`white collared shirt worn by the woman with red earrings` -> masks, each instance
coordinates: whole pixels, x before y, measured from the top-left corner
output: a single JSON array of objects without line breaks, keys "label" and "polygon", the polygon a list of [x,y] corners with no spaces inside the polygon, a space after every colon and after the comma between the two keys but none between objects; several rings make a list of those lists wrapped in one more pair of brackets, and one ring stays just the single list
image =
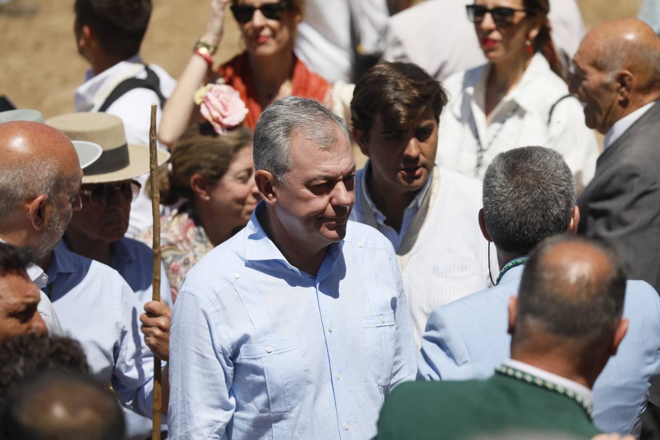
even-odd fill
[{"label": "white collared shirt worn by the woman with red earrings", "polygon": [[[593,131],[584,125],[582,106],[572,96],[564,98],[568,95],[566,83],[537,53],[486,125],[488,69],[490,65],[486,64],[459,72],[444,83],[449,104],[440,117],[436,164],[483,179],[486,168],[500,152],[520,146],[546,146],[562,153],[579,193],[593,177],[599,151]],[[485,150],[479,168],[477,137]]]}]

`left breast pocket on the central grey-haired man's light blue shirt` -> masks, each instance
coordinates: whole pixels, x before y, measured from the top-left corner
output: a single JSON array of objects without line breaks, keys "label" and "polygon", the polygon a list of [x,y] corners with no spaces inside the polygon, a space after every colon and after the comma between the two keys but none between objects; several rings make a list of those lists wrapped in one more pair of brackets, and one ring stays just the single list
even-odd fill
[{"label": "left breast pocket on the central grey-haired man's light blue shirt", "polygon": [[261,412],[287,412],[305,395],[305,367],[293,338],[241,347],[240,374],[255,406]]}]

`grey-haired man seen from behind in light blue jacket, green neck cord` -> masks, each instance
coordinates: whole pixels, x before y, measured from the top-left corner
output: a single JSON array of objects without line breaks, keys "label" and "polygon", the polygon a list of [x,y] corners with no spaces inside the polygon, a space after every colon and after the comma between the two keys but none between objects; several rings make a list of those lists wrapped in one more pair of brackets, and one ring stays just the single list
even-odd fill
[{"label": "grey-haired man seen from behind in light blue jacket, green neck cord", "polygon": [[[496,286],[435,309],[422,336],[418,377],[486,379],[510,358],[507,305],[517,295],[525,255],[545,237],[574,233],[576,191],[562,156],[540,146],[496,156],[484,177],[479,222],[500,262]],[[660,389],[660,298],[644,281],[628,281],[626,337],[593,386],[595,425],[621,434],[640,431],[647,398]]]}]

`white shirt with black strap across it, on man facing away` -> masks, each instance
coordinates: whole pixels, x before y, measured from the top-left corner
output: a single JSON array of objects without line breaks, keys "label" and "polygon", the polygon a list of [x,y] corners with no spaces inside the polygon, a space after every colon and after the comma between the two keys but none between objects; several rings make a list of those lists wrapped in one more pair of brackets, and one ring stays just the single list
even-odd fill
[{"label": "white shirt with black strap across it, on man facing away", "polygon": [[[141,67],[143,61],[135,55],[121,61],[95,77],[92,71],[87,71],[84,84],[76,89],[74,94],[76,111],[98,111],[110,92],[119,82],[128,78],[145,79],[147,74]],[[160,92],[168,98],[174,91],[176,81],[162,67],[150,64],[149,68],[158,75]],[[151,124],[151,104],[158,104],[156,109],[156,127],[160,124],[162,109],[158,95],[147,88],[134,88],[117,99],[106,113],[116,115],[123,121],[126,140],[129,144],[149,145],[149,127]],[[166,149],[158,142],[158,147]],[[153,224],[151,199],[146,193],[146,183],[149,174],[140,176],[137,180],[142,184],[140,195],[131,203],[131,217],[127,237],[133,237],[138,232],[150,228]]]}]

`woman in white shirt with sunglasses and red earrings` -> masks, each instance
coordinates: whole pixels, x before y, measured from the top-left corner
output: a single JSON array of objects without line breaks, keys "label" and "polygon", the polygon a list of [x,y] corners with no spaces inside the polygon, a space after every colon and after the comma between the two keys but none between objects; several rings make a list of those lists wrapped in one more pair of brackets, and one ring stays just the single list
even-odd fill
[{"label": "woman in white shirt with sunglasses and red earrings", "polygon": [[500,152],[541,145],[564,155],[581,191],[599,152],[568,93],[548,0],[475,0],[466,8],[488,63],[444,82],[451,98],[440,119],[436,162],[482,179]]}]

